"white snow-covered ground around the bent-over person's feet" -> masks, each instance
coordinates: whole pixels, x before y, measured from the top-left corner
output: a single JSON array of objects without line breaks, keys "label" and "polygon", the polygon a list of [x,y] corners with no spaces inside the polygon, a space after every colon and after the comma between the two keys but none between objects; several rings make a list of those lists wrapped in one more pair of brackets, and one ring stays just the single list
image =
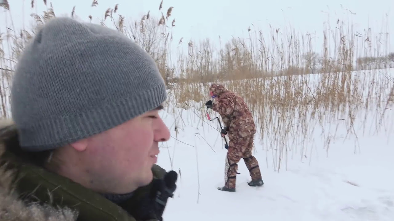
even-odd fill
[{"label": "white snow-covered ground around the bent-over person's feet", "polygon": [[[365,133],[357,125],[364,114],[356,116],[357,138],[346,137],[344,121],[325,128],[325,134],[337,130],[328,151],[327,140],[320,136],[322,128],[316,127],[309,143],[292,142],[293,151],[281,157],[279,171],[274,166],[275,149],[256,134],[254,155],[265,184],[247,185],[250,176],[241,159],[236,192],[216,189],[224,184],[227,152],[217,120],[210,122],[195,109],[175,113],[162,113],[172,138],[160,147],[158,164],[178,172],[178,188],[168,200],[164,220],[394,220],[394,138],[389,138],[394,134],[393,110],[386,111],[385,126],[378,134],[373,133],[376,113],[369,115]],[[217,116],[212,110],[209,113],[211,118]],[[306,144],[308,154],[301,158],[299,151]]]}]

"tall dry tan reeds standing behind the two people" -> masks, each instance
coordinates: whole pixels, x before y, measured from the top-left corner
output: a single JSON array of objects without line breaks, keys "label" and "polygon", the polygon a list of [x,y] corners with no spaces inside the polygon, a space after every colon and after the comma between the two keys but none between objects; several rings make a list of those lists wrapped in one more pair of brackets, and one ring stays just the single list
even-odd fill
[{"label": "tall dry tan reeds standing behind the two people", "polygon": [[[32,7],[35,4],[39,3],[32,1]],[[93,1],[92,7],[97,4]],[[6,12],[7,6],[8,2],[3,0]],[[258,136],[266,141],[263,149],[271,151],[275,169],[280,169],[294,153],[301,159],[310,155],[311,139],[316,138],[314,133],[318,130],[325,142],[321,148],[327,150],[336,139],[335,131],[329,128],[345,125],[347,135],[352,135],[355,143],[357,137],[363,136],[358,134],[356,123],[364,131],[373,129],[374,134],[387,132],[382,130],[385,129],[383,116],[392,114],[394,75],[388,69],[377,69],[392,65],[387,51],[387,30],[365,27],[361,32],[346,21],[326,22],[320,40],[323,50],[318,52],[312,44],[316,39],[308,33],[271,27],[269,37],[265,37],[262,30],[249,28],[248,39],[220,41],[220,47],[215,48],[209,39],[199,43],[173,39],[176,28],[171,17],[173,7],[164,10],[162,6],[163,1],[159,18],[148,12],[138,20],[127,22],[124,15],[117,14],[116,4],[105,11],[100,23],[118,29],[152,55],[169,88],[168,102],[174,104],[168,111],[177,115],[176,118],[185,116],[179,116],[175,107],[192,108],[198,110],[195,117],[203,119],[201,123],[206,122],[202,106],[209,98],[209,85],[222,83],[241,94],[249,104]],[[17,30],[9,14],[5,14],[6,27],[0,29],[2,117],[10,116],[8,85],[20,53],[37,29],[55,16],[52,6],[47,6],[43,15],[32,15],[33,27]],[[374,36],[375,32],[379,34]],[[186,52],[174,47],[182,44],[187,44]],[[360,59],[371,57],[388,59]],[[358,69],[369,70],[355,72]],[[374,119],[374,124],[370,119]],[[179,120],[175,126],[182,127],[185,122]],[[296,149],[300,146],[301,149]]]}]

